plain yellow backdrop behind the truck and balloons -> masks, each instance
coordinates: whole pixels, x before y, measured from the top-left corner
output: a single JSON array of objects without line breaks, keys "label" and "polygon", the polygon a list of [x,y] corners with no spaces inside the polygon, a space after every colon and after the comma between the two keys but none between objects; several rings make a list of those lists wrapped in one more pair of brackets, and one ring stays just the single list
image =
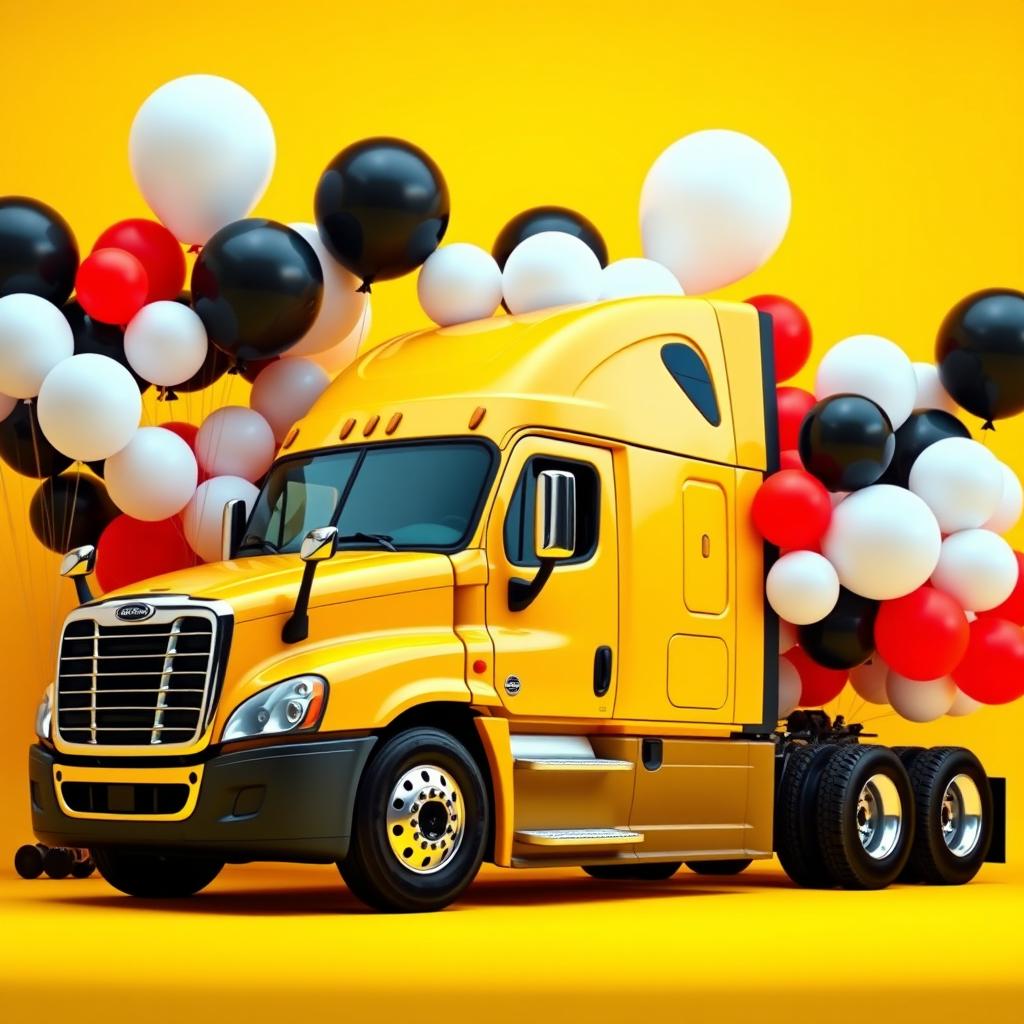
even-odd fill
[{"label": "plain yellow backdrop behind the truck and balloons", "polygon": [[[209,72],[250,89],[273,122],[278,163],[256,212],[311,219],[328,160],[357,138],[395,134],[424,146],[445,173],[453,200],[446,241],[483,246],[517,211],[559,203],[599,225],[612,258],[640,255],[640,186],[657,154],[700,128],[749,132],[786,170],[793,222],[775,257],[723,294],[774,291],[803,305],[815,329],[812,364],[828,344],[860,332],[886,335],[914,358],[928,358],[939,322],[962,296],[991,285],[1024,286],[1020,0],[250,0],[173,8],[138,0],[0,0],[0,194],[27,194],[56,207],[84,251],[113,221],[146,214],[127,159],[139,103],[168,79]],[[425,323],[414,278],[375,287],[373,303],[371,343]],[[797,383],[810,380],[805,372]],[[234,386],[244,399],[244,388]],[[229,388],[181,402],[173,415],[197,419],[213,400],[225,400]],[[151,404],[147,415],[163,422],[172,414]],[[971,425],[980,436],[978,422]],[[1024,473],[1022,423],[1000,424],[982,439]],[[70,587],[55,580],[55,558],[41,554],[26,531],[31,486],[9,472],[4,482],[12,520],[0,510],[2,870],[13,845],[28,839],[25,749],[52,669],[53,631],[70,602]],[[1024,534],[1018,529],[1012,540],[1019,546]],[[847,710],[853,703],[841,701]],[[1014,776],[1012,807],[1020,819],[1024,702],[933,726],[892,716],[871,724],[890,742],[974,748],[990,772]],[[1018,860],[1024,855],[1020,829],[1011,852]],[[536,895],[532,885],[524,898]],[[503,891],[514,900],[515,890]],[[26,892],[18,890],[19,898]],[[771,910],[782,919],[797,903],[779,897],[802,900],[804,912],[819,905],[818,897],[787,889],[773,895]],[[988,891],[989,909],[996,896]],[[752,920],[750,903],[719,898],[724,902],[711,905],[739,914],[733,927]],[[864,920],[857,900],[837,904],[844,909],[836,934],[846,922]],[[228,901],[221,908],[243,905]],[[285,912],[286,905],[268,912]],[[683,923],[688,911],[689,904],[680,906],[672,920]],[[542,926],[543,909],[531,912],[517,943],[528,945],[530,921]],[[900,910],[919,912],[909,904]],[[709,914],[718,920],[715,910]],[[632,928],[601,920],[608,921],[609,949],[633,941]],[[597,934],[596,921],[588,921],[566,926],[566,945]],[[127,915],[119,927],[130,928]],[[383,934],[388,926],[374,927]],[[828,931],[812,929],[811,943]],[[344,934],[339,929],[336,937],[339,957]],[[988,941],[994,949],[1012,940],[1000,934]],[[522,948],[500,953],[501,945],[492,945],[496,955],[524,954]],[[426,953],[429,959],[429,941]],[[288,971],[301,976],[300,962],[289,956]],[[528,984],[526,974],[521,980]],[[646,983],[671,982],[665,976]],[[458,1000],[449,1008],[457,1014]]]}]

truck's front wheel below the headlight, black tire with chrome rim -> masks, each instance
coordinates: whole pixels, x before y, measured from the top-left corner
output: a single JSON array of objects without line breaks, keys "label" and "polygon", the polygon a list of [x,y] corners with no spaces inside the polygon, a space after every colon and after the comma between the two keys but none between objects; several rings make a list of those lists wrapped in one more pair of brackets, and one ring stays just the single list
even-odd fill
[{"label": "truck's front wheel below the headlight, black tire with chrome rim", "polygon": [[[421,774],[428,777],[421,781]],[[413,775],[416,785],[404,796]],[[427,808],[431,830],[417,830]],[[389,822],[392,809],[399,821]],[[439,729],[409,729],[384,742],[364,770],[348,854],[338,869],[352,893],[378,910],[439,910],[476,877],[489,817],[487,788],[469,751]],[[459,837],[454,848],[450,837]]]}]

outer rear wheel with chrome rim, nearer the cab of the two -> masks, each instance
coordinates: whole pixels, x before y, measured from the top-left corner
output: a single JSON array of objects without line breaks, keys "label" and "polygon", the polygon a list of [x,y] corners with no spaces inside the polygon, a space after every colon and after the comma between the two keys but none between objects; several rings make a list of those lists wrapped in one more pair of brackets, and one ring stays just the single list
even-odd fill
[{"label": "outer rear wheel with chrome rim, nearer the cab of the two", "polygon": [[[872,807],[883,817],[870,829]],[[913,796],[903,762],[888,746],[840,748],[821,775],[818,827],[822,858],[845,889],[895,882],[913,842]]]}]

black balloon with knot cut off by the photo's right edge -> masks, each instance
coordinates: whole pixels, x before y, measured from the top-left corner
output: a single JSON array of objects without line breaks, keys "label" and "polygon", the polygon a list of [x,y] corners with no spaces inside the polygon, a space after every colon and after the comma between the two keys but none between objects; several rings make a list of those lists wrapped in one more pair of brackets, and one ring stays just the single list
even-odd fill
[{"label": "black balloon with knot cut off by the photo's right edge", "polygon": [[942,386],[986,427],[1024,411],[1024,294],[992,288],[946,314],[935,343]]}]

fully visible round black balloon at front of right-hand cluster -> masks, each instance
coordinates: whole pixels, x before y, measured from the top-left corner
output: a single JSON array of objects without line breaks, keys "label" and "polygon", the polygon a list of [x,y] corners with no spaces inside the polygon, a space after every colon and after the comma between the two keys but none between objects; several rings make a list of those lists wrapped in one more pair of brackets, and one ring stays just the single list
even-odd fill
[{"label": "fully visible round black balloon at front of right-hand cluster", "polygon": [[823,398],[800,427],[800,460],[829,490],[877,483],[892,461],[896,437],[885,412],[859,394]]}]

